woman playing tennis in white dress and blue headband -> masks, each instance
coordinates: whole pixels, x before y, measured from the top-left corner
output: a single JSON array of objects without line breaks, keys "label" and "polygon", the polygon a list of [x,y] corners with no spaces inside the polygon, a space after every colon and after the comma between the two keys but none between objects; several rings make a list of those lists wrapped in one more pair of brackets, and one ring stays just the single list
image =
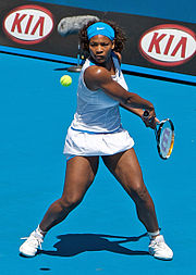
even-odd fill
[{"label": "woman playing tennis in white dress and blue headband", "polygon": [[[158,122],[152,103],[128,92],[120,68],[124,46],[122,30],[110,22],[89,22],[79,33],[81,46],[88,52],[77,89],[77,110],[68,130],[64,154],[68,159],[62,197],[54,201],[41,223],[21,246],[20,252],[34,257],[46,233],[62,222],[83,200],[97,173],[99,155],[136,205],[146,227],[149,253],[171,260],[172,250],[160,235],[154,202],[143,182],[133,149],[134,141],[121,125],[119,105],[137,114],[147,127]],[[144,117],[144,111],[149,112]]]}]

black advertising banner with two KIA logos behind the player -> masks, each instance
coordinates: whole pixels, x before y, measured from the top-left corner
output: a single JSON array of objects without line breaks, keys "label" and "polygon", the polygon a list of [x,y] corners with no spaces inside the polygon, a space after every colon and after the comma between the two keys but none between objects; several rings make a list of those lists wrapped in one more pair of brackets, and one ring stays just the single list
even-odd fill
[{"label": "black advertising banner with two KIA logos behind the player", "polygon": [[196,24],[23,0],[0,0],[0,11],[1,52],[73,63],[78,29],[106,18],[126,34],[124,71],[196,84]]}]

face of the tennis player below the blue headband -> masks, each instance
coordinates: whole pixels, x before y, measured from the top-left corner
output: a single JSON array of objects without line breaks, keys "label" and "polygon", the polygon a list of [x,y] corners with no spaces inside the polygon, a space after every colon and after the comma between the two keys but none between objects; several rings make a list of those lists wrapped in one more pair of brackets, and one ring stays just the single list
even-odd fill
[{"label": "face of the tennis player below the blue headband", "polygon": [[105,63],[111,57],[114,43],[106,36],[97,35],[89,40],[89,52],[97,63]]}]

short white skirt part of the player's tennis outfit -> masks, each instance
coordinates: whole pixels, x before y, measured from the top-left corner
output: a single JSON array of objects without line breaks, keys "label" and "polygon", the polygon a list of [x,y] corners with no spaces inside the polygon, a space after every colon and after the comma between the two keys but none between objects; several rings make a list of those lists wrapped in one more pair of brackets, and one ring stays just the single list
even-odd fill
[{"label": "short white skirt part of the player's tennis outfit", "polygon": [[127,130],[120,127],[113,133],[86,133],[69,127],[63,153],[66,160],[75,155],[110,155],[134,146]]}]

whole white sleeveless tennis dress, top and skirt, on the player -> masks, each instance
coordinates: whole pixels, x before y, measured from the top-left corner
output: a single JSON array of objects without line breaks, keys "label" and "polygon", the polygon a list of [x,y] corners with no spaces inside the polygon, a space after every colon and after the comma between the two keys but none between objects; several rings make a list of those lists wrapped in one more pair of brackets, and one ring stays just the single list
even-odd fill
[{"label": "whole white sleeveless tennis dress, top and skirt, on the player", "polygon": [[[113,80],[127,90],[117,55],[112,55],[115,66]],[[86,60],[77,88],[77,110],[68,129],[64,150],[69,160],[75,155],[109,155],[125,151],[134,146],[133,138],[121,125],[119,101],[101,89],[89,90],[84,82],[84,72],[95,65]]]}]

